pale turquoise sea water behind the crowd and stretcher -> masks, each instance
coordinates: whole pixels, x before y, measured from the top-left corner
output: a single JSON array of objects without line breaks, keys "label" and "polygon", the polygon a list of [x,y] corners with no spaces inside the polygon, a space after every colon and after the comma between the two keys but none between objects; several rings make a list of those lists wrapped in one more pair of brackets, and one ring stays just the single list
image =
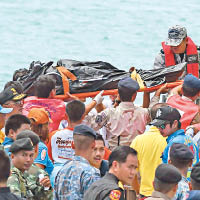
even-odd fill
[{"label": "pale turquoise sea water behind the crowd and stretcher", "polygon": [[199,0],[0,0],[0,88],[33,60],[151,69],[168,27],[200,45]]}]

